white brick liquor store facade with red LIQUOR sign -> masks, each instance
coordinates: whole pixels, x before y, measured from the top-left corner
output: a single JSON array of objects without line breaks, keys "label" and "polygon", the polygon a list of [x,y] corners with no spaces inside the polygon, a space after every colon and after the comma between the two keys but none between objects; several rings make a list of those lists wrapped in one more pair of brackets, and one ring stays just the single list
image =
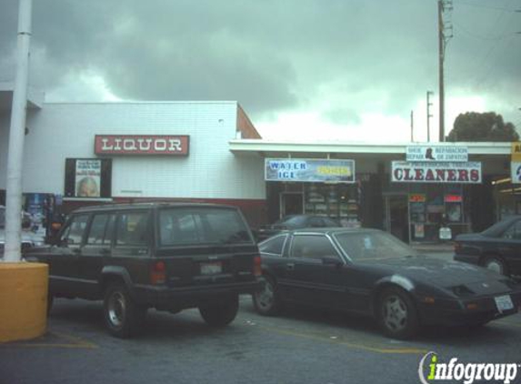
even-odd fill
[{"label": "white brick liquor store facade with red LIQUOR sign", "polygon": [[[0,190],[6,187],[9,119],[10,109],[0,109]],[[260,137],[235,101],[42,103],[28,109],[26,126],[23,191],[31,198],[55,196],[65,212],[108,201],[190,200],[241,207],[255,226],[266,210],[263,160],[229,149],[237,137]],[[96,153],[96,136],[112,153]],[[139,150],[150,146],[149,153]],[[68,169],[71,161],[102,184],[98,193],[75,190],[82,172]]]}]

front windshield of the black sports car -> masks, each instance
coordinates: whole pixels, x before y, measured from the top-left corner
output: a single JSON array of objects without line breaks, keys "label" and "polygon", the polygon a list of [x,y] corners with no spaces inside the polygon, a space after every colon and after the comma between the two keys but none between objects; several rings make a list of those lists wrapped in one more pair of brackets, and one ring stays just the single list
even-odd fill
[{"label": "front windshield of the black sports car", "polygon": [[418,256],[418,252],[386,232],[341,232],[334,236],[354,261]]}]

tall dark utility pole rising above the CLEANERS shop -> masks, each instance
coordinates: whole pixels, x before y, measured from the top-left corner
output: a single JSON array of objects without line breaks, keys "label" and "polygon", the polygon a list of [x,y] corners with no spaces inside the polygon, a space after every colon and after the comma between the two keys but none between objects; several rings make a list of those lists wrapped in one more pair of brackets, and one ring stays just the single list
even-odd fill
[{"label": "tall dark utility pole rising above the CLEANERS shop", "polygon": [[[452,0],[437,0],[438,60],[439,60],[439,141],[445,141],[444,61],[446,44],[452,37],[452,25],[444,20],[444,12],[452,11]],[[448,34],[446,32],[448,31]]]}]

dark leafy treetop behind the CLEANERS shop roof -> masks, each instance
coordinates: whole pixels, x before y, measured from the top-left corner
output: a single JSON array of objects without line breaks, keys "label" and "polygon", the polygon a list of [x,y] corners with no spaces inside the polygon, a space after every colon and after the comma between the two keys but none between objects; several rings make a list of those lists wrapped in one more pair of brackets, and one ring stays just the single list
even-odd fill
[{"label": "dark leafy treetop behind the CLEANERS shop roof", "polygon": [[466,112],[454,121],[447,141],[517,141],[516,127],[495,112]]}]

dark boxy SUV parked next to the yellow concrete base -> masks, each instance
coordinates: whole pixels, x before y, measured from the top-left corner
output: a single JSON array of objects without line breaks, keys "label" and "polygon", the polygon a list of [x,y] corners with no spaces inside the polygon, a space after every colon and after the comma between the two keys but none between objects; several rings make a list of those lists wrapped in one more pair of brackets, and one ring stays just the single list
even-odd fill
[{"label": "dark boxy SUV parked next to the yellow concrete base", "polygon": [[199,308],[208,325],[225,326],[238,295],[259,288],[259,251],[236,207],[80,208],[55,245],[25,258],[49,265],[49,298],[103,299],[105,326],[120,338],[141,328],[147,308]]}]

